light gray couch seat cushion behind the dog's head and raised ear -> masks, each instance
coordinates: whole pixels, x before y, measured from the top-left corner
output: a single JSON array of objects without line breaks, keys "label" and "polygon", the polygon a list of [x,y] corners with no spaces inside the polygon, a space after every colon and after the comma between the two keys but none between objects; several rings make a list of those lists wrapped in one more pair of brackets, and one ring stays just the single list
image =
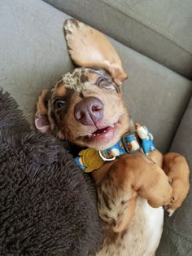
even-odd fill
[{"label": "light gray couch seat cushion behind the dog's head and raised ear", "polygon": [[[40,90],[72,71],[63,37],[63,12],[37,0],[0,2],[0,86],[11,92],[33,120]],[[111,39],[129,80],[124,98],[135,121],[149,126],[167,151],[190,99],[192,82]]]}]

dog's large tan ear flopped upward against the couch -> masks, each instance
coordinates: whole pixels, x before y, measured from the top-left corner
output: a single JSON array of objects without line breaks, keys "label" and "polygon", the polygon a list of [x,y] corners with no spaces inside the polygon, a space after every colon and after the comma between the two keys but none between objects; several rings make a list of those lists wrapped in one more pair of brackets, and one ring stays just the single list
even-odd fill
[{"label": "dog's large tan ear flopped upward against the couch", "polygon": [[64,32],[68,51],[77,66],[104,68],[117,85],[128,77],[119,55],[103,33],[73,19],[65,21]]}]

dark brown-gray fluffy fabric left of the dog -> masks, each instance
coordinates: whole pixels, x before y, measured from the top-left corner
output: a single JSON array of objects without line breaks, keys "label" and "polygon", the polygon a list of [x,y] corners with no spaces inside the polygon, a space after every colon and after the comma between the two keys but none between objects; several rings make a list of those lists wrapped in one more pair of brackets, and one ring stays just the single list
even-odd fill
[{"label": "dark brown-gray fluffy fabric left of the dog", "polygon": [[87,255],[102,240],[93,181],[0,91],[0,255]]}]

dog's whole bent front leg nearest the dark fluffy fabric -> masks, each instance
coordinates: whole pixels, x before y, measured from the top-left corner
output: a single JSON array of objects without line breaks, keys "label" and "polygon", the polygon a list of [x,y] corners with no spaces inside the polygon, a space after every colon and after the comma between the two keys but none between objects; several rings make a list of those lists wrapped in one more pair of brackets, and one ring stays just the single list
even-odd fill
[{"label": "dog's whole bent front leg nearest the dark fluffy fabric", "polygon": [[94,174],[94,179],[98,186],[99,214],[114,232],[122,232],[128,226],[137,195],[146,198],[153,207],[170,204],[172,188],[168,177],[142,153],[121,157],[108,170]]}]

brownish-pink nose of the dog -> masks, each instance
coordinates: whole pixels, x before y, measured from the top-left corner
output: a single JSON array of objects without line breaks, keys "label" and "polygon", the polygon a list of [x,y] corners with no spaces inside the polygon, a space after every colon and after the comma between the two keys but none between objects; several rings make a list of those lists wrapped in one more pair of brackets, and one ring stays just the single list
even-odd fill
[{"label": "brownish-pink nose of the dog", "polygon": [[95,97],[82,99],[74,108],[74,116],[83,125],[93,126],[103,117],[103,103]]}]

